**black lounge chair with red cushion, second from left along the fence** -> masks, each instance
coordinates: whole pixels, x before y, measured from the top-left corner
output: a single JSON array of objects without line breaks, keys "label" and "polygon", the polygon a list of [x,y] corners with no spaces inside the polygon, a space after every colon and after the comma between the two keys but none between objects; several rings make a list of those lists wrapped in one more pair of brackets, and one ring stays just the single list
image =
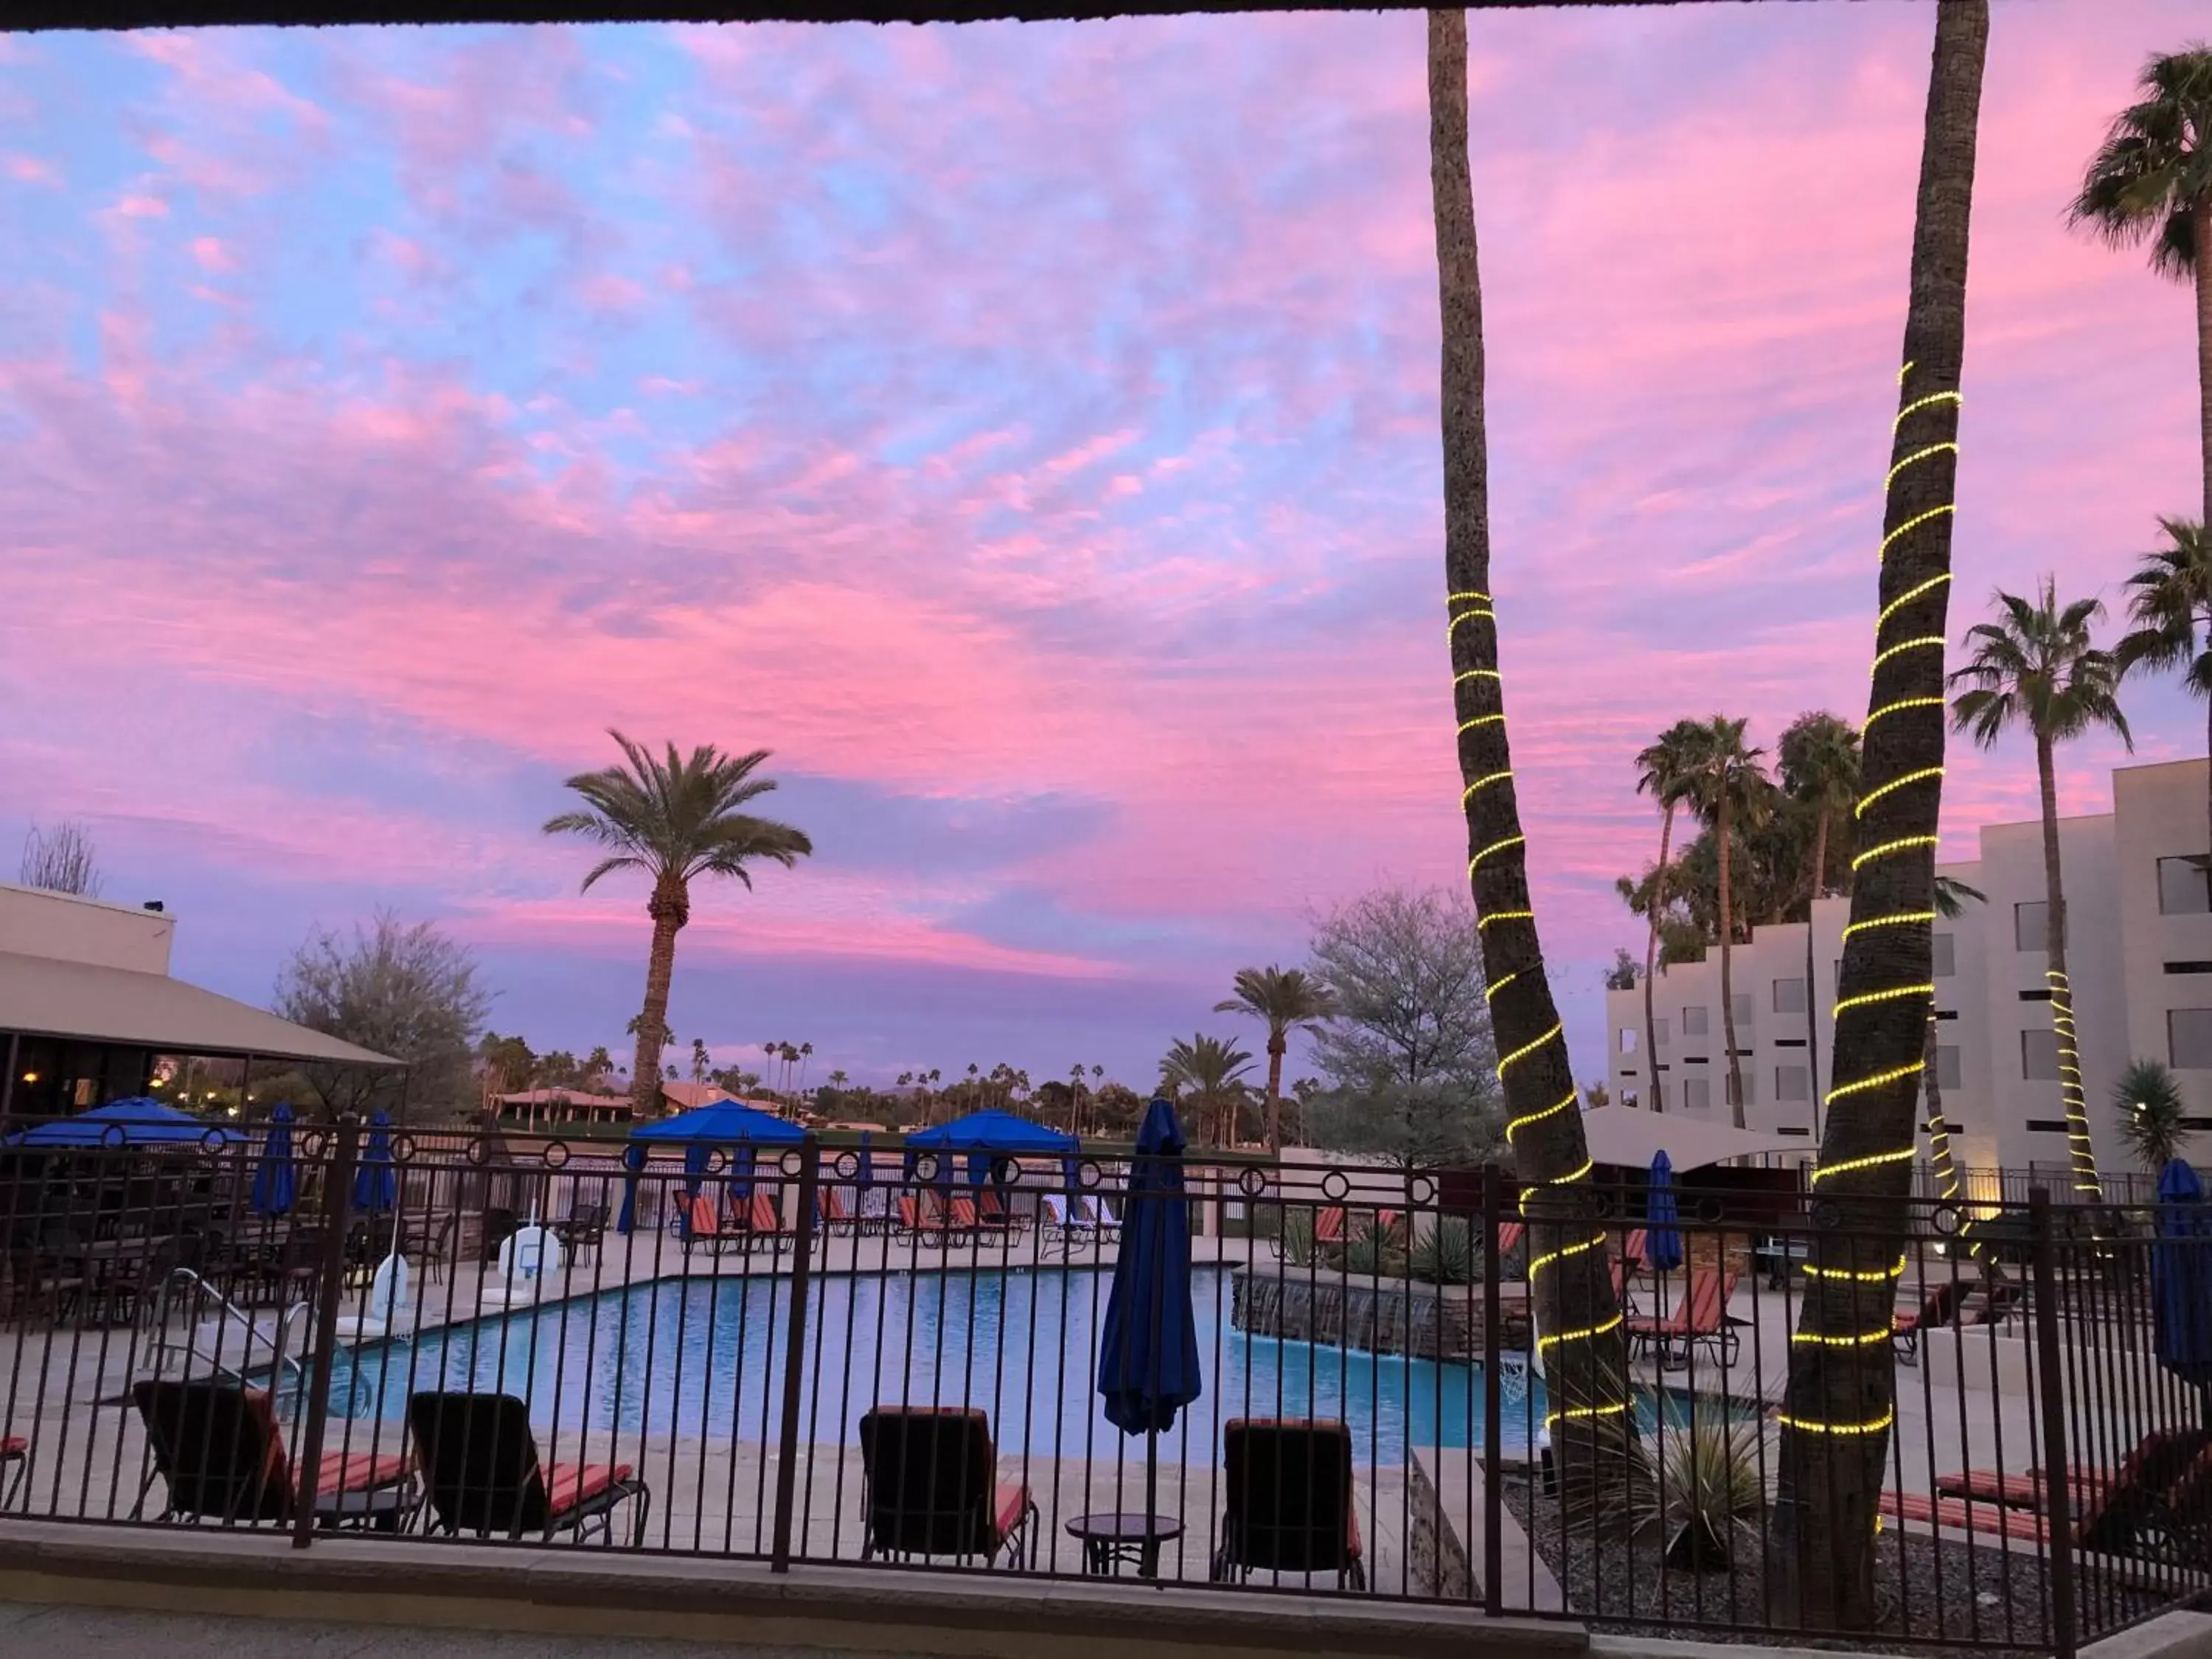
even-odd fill
[{"label": "black lounge chair with red cushion, second from left along the fence", "polygon": [[653,1491],[626,1462],[538,1462],[529,1407],[513,1394],[416,1394],[407,1400],[429,1524],[476,1537],[615,1535],[635,1502],[630,1544],[646,1542]]}]

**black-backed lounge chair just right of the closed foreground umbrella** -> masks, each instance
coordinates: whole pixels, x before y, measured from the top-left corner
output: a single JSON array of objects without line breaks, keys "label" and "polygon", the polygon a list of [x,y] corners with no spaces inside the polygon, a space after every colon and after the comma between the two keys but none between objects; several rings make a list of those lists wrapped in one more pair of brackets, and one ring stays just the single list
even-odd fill
[{"label": "black-backed lounge chair just right of the closed foreground umbrella", "polygon": [[1217,1584],[1252,1573],[1334,1573],[1338,1588],[1367,1588],[1347,1425],[1234,1418],[1221,1429],[1221,1462]]}]

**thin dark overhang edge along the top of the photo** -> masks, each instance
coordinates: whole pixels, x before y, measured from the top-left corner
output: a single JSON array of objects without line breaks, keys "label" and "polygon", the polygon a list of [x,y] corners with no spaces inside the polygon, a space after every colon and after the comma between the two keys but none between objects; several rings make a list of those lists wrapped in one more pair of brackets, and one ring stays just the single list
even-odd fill
[{"label": "thin dark overhang edge along the top of the photo", "polygon": [[[1663,7],[1712,0],[1467,0],[1469,11],[1568,7]],[[1730,0],[1803,4],[1809,0]],[[1186,11],[1427,11],[1367,0],[0,0],[0,29],[199,29],[215,24],[363,22],[1091,22],[1164,18]]]}]

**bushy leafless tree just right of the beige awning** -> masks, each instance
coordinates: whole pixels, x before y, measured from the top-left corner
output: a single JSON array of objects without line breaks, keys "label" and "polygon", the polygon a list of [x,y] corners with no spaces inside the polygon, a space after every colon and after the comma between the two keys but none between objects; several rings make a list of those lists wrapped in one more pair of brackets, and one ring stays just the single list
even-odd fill
[{"label": "bushy leafless tree just right of the beige awning", "polygon": [[[376,911],[352,938],[319,929],[276,978],[274,1009],[285,1020],[341,1042],[405,1060],[409,1093],[422,1104],[453,1104],[469,1091],[476,1035],[491,993],[476,958],[431,922],[403,925]],[[310,1064],[307,1082],[341,1113],[387,1106],[398,1077],[363,1066]]]}]

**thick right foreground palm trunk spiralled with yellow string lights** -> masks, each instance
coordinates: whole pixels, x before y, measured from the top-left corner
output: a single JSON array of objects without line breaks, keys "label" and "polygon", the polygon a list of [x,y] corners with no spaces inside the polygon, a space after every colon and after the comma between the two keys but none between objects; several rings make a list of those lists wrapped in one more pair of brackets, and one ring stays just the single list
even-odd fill
[{"label": "thick right foreground palm trunk spiralled with yellow string lights", "polygon": [[1851,925],[1843,936],[1834,1086],[1812,1259],[1790,1345],[1770,1617],[1874,1624],[1876,1502],[1896,1422],[1896,1310],[1913,1110],[1933,1002],[1942,641],[1951,595],[1958,389],[1966,356],[1966,223],[1989,0],[1940,0],[1913,215],[1905,369],[1882,511],[1874,690],[1860,759]]}]

